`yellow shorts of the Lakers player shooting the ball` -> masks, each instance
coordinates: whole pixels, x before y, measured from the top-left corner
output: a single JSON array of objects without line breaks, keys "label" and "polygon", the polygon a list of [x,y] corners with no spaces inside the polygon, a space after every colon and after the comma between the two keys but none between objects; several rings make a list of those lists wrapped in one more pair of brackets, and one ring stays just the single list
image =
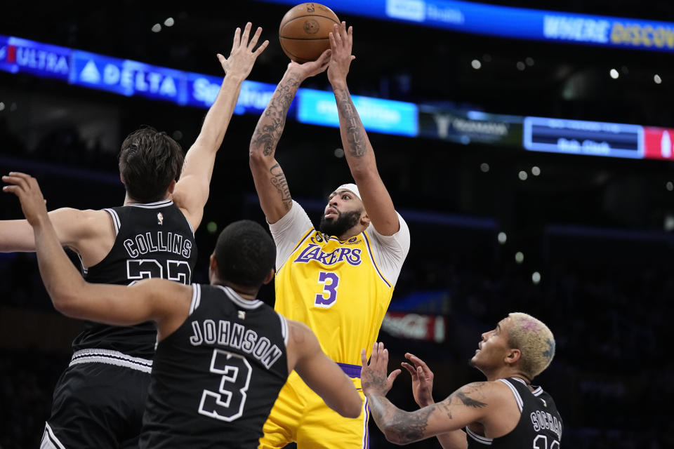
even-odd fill
[{"label": "yellow shorts of the Lakers player shooting the ball", "polygon": [[258,448],[283,448],[293,441],[297,443],[298,449],[369,448],[369,409],[359,377],[352,377],[351,380],[363,401],[362,411],[357,418],[345,418],[326,406],[323,399],[293,371],[265,422],[265,435],[260,438]]}]

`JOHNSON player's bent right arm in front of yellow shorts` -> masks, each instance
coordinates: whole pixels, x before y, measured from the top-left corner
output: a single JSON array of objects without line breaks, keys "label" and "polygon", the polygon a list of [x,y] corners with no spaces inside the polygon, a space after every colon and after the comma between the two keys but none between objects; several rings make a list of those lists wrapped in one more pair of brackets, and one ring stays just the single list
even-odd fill
[{"label": "JOHNSON player's bent right arm in front of yellow shorts", "polygon": [[327,406],[344,417],[358,417],[362,401],[337,363],[325,355],[316,335],[305,324],[288,320],[290,337],[288,342],[289,366],[310,389],[323,398]]}]

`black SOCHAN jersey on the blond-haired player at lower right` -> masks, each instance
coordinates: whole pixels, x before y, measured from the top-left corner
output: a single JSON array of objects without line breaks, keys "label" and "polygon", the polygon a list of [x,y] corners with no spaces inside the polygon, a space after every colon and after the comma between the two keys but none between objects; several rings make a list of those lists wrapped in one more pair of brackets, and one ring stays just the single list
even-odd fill
[{"label": "black SOCHAN jersey on the blond-haired player at lower right", "polygon": [[562,417],[557,412],[555,401],[541,387],[534,391],[517,377],[499,379],[513,391],[520,407],[520,422],[509,434],[498,438],[485,438],[466,428],[468,448],[491,449],[560,449],[562,441]]}]

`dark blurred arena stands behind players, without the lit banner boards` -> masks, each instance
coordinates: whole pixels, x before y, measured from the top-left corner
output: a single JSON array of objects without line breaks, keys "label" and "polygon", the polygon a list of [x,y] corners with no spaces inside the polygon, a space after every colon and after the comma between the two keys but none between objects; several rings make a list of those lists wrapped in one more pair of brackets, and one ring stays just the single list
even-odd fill
[{"label": "dark blurred arena stands behind players, without the lit banner boards", "polygon": [[[529,152],[517,133],[498,132],[508,116],[674,128],[672,46],[506,39],[367,18],[341,12],[339,1],[323,3],[354,27],[352,94],[425,105],[423,137],[369,133],[381,176],[411,231],[380,334],[391,368],[413,352],[435,371],[435,398],[444,398],[482,379],[467,365],[480,333],[509,311],[526,311],[557,337],[555,360],[535,383],[557,401],[564,447],[673,447],[674,163]],[[668,1],[484,3],[674,21]],[[288,8],[238,0],[10,0],[1,8],[0,34],[220,76],[215,54],[228,55],[234,28],[251,21],[263,27],[270,46],[249,80],[275,84],[287,63],[277,32]],[[170,27],[167,18],[174,20]],[[161,31],[152,31],[155,24]],[[322,74],[303,87],[324,91],[329,83]],[[484,133],[442,138],[437,120],[447,111],[459,118],[466,111],[502,116],[489,122],[497,128],[491,142]],[[50,209],[121,204],[116,154],[124,136],[147,124],[187,149],[205,112],[0,72],[0,171],[36,176]],[[215,229],[242,217],[264,223],[247,161],[257,119],[235,115],[218,154],[197,231],[195,281],[207,281]],[[466,133],[480,131],[468,119],[461,123]],[[286,124],[277,159],[312,218],[325,195],[350,179],[340,147],[337,128]],[[0,218],[19,217],[18,201],[0,195]],[[34,448],[81,323],[54,311],[34,255],[0,255],[0,273],[0,448]],[[272,286],[260,295],[271,304]],[[389,398],[416,408],[407,373]],[[372,447],[389,447],[372,420],[370,430]],[[431,439],[411,447],[440,445]]]}]

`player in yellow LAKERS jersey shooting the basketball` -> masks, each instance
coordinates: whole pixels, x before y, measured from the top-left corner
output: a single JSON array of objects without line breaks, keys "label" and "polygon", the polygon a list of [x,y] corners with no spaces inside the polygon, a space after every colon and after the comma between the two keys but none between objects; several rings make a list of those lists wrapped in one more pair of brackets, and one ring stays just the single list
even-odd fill
[{"label": "player in yellow LAKERS jersey shooting the basketball", "polygon": [[[260,206],[277,246],[275,309],[309,326],[321,347],[360,387],[360,349],[371,347],[409,250],[409,229],[379,176],[374,151],[349,93],[352,29],[335,25],[331,51],[291,62],[258,121],[250,164]],[[346,160],[355,184],[336,188],[315,229],[290,196],[275,151],[300,84],[324,72],[332,85]],[[364,401],[364,398],[363,398]],[[326,408],[291,375],[267,420],[260,448],[368,446],[366,401],[356,419]]]}]

